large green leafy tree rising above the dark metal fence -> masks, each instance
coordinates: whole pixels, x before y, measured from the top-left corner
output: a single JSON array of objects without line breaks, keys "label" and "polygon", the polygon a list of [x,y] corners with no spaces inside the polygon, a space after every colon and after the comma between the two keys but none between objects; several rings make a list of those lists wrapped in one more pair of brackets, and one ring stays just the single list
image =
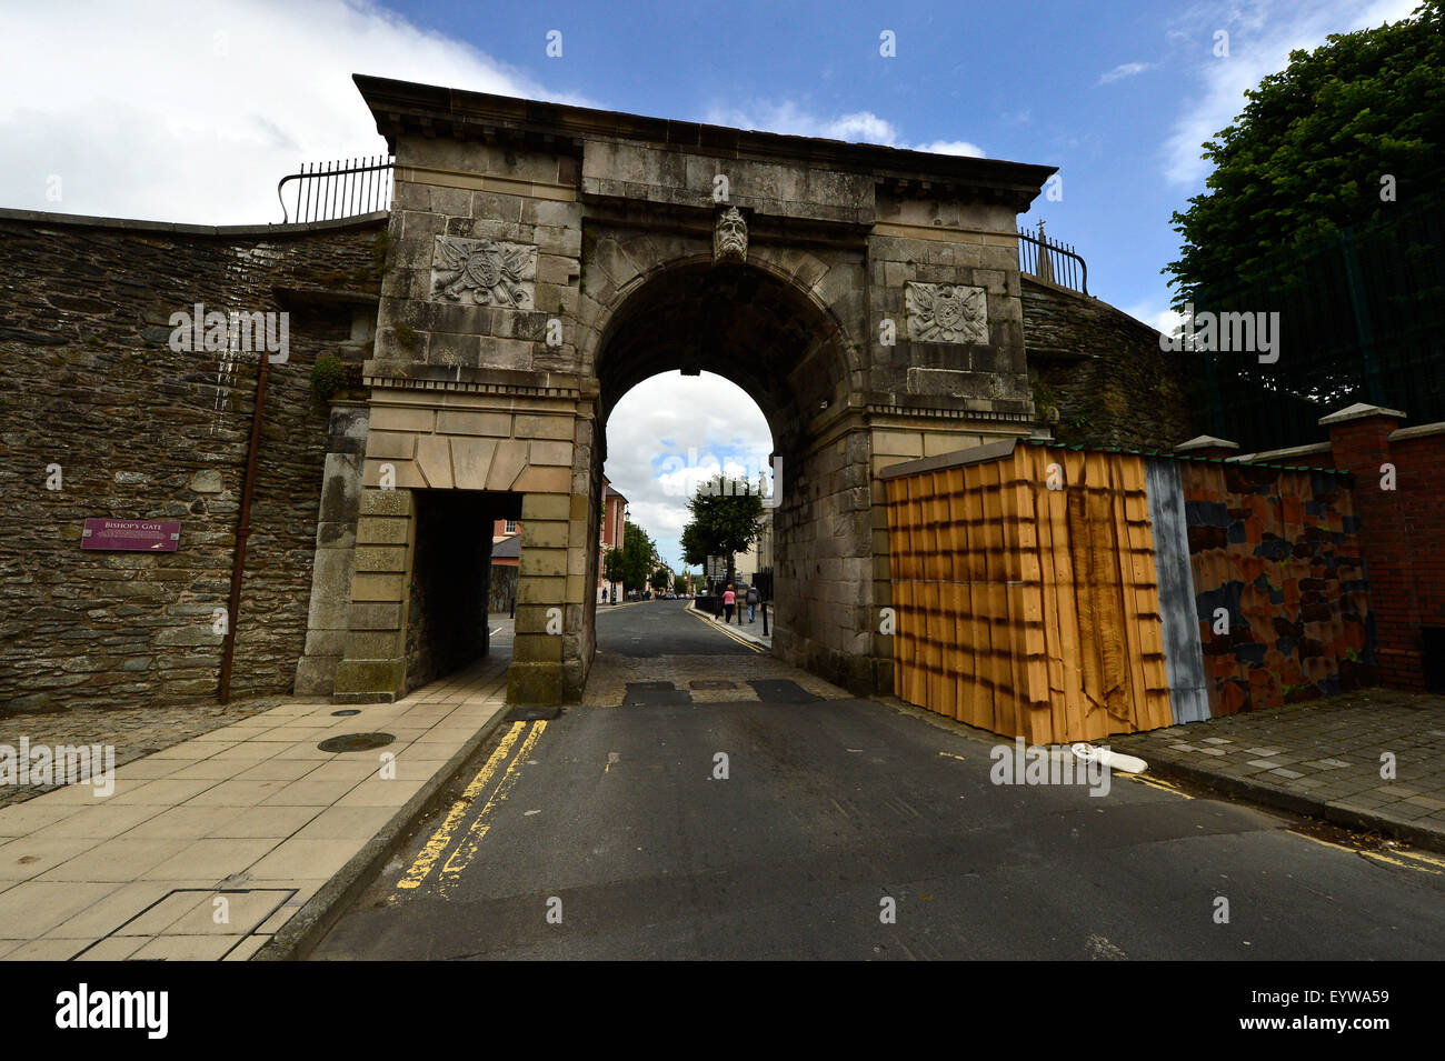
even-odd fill
[{"label": "large green leafy tree rising above the dark metal fence", "polygon": [[1441,188],[1445,0],[1289,59],[1204,144],[1208,191],[1173,215],[1183,244],[1165,271],[1176,309],[1198,309],[1202,292],[1259,280],[1289,251],[1381,217],[1390,179],[1400,201]]}]

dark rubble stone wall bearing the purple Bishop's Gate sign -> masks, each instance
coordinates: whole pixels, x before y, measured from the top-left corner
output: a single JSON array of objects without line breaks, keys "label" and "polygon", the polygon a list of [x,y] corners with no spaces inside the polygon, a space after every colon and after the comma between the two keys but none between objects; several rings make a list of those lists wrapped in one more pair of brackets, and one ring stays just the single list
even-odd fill
[{"label": "dark rubble stone wall bearing the purple Bishop's Gate sign", "polygon": [[[171,315],[198,302],[292,313],[289,361],[269,372],[233,694],[290,690],[328,446],[309,371],[368,341],[358,316],[374,313],[384,253],[376,218],[207,230],[0,212],[0,710],[215,696],[257,365],[168,348]],[[49,465],[62,489],[46,489]],[[181,544],[82,551],[87,517],[179,520]]]}]

